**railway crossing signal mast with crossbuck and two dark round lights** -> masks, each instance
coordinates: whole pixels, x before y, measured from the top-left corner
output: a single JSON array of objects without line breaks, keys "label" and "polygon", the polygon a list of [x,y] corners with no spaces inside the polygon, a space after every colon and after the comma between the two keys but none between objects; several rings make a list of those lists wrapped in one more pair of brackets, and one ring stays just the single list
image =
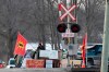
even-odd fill
[{"label": "railway crossing signal mast with crossbuck and two dark round lights", "polygon": [[[75,12],[75,9],[77,7],[76,3],[73,3],[71,5],[71,0],[66,0],[66,7],[60,0],[58,0],[58,7],[59,7],[60,24],[57,26],[57,29],[59,33],[62,33],[62,37],[69,39],[68,45],[70,45],[71,38],[74,37],[74,33],[78,33],[81,31],[80,25],[76,23],[76,17],[75,17],[76,14],[75,13],[73,13],[74,15],[72,14],[72,12]],[[66,22],[63,22],[63,20],[66,20]],[[68,57],[68,65],[70,65],[70,57]]]}]

